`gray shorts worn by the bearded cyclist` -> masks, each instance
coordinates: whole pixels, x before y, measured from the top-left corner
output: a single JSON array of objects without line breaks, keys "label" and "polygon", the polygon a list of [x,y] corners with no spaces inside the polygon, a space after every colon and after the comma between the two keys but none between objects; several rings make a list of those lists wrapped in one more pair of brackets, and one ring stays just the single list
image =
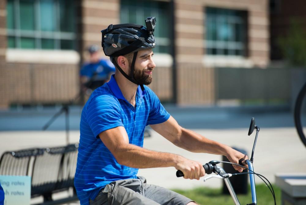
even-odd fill
[{"label": "gray shorts worn by the bearded cyclist", "polygon": [[170,204],[186,205],[193,200],[152,184],[147,184],[146,179],[138,176],[138,179],[118,180],[107,184],[94,200],[89,199],[90,205],[141,205],[141,204]]}]

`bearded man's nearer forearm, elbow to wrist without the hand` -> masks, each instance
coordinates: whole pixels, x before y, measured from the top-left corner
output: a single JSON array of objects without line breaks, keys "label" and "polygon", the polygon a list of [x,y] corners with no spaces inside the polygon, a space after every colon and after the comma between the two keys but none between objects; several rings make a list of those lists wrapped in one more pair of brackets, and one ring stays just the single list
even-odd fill
[{"label": "bearded man's nearer forearm, elbow to wrist without the hand", "polygon": [[119,164],[134,168],[175,167],[185,159],[176,154],[151,151],[131,144],[118,147],[113,154]]}]

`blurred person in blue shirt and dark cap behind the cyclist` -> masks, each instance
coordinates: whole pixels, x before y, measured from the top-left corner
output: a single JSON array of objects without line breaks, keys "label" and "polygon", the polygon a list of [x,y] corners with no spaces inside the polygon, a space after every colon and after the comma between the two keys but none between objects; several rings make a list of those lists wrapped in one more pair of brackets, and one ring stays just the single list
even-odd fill
[{"label": "blurred person in blue shirt and dark cap behind the cyclist", "polygon": [[85,63],[80,70],[82,90],[90,95],[97,87],[108,82],[110,75],[115,73],[114,64],[109,59],[101,59],[99,46],[91,45],[88,48],[89,62]]}]

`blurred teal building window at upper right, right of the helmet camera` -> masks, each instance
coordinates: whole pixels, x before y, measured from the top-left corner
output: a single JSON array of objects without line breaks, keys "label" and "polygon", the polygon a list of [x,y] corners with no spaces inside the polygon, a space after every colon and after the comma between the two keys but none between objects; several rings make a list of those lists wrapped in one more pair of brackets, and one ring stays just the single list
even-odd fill
[{"label": "blurred teal building window at upper right, right of the helmet camera", "polygon": [[247,12],[206,7],[206,54],[246,56]]}]

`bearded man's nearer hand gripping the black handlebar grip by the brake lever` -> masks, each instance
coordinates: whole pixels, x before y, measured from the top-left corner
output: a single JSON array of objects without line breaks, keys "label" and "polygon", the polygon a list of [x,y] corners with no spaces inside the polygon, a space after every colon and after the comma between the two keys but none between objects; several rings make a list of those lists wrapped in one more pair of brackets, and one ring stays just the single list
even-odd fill
[{"label": "bearded man's nearer hand gripping the black handlebar grip by the brake lever", "polygon": [[205,170],[200,162],[188,160],[184,157],[180,157],[175,168],[181,170],[184,173],[185,179],[196,179],[205,175]]}]

